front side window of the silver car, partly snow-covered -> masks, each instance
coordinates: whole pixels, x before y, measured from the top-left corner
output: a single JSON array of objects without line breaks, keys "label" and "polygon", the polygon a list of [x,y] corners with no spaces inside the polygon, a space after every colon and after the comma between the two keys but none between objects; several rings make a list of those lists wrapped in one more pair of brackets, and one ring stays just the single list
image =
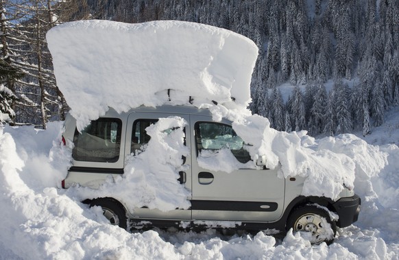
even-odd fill
[{"label": "front side window of the silver car, partly snow-covered", "polygon": [[195,139],[198,154],[202,150],[228,148],[240,163],[251,160],[249,152],[243,148],[243,139],[234,132],[232,126],[224,123],[197,122],[195,123]]}]

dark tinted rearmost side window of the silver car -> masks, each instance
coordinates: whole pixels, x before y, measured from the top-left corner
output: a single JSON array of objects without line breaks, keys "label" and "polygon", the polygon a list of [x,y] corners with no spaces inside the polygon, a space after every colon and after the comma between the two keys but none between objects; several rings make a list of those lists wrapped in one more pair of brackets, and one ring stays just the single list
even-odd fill
[{"label": "dark tinted rearmost side window of the silver car", "polygon": [[80,133],[75,130],[72,156],[76,161],[114,163],[121,150],[122,121],[100,118]]}]

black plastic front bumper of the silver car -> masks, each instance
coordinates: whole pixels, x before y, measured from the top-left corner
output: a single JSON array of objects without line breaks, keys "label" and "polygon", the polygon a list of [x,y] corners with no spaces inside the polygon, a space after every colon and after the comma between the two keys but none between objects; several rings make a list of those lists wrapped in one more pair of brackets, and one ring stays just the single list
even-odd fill
[{"label": "black plastic front bumper of the silver car", "polygon": [[333,204],[339,215],[337,226],[344,228],[357,221],[360,212],[361,199],[354,194],[352,197],[341,198]]}]

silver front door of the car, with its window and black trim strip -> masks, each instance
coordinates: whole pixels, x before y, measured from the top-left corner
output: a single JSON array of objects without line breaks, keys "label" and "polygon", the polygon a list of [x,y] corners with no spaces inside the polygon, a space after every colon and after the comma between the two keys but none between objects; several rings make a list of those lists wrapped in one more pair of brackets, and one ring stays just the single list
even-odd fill
[{"label": "silver front door of the car, with its window and black trim strip", "polygon": [[[226,148],[235,160],[241,163],[250,160],[249,154],[240,147],[241,138],[232,130],[229,121],[216,123],[210,117],[201,115],[191,115],[191,129],[195,134],[191,139],[193,219],[278,220],[284,208],[285,194],[285,180],[278,178],[278,169],[245,169],[245,165],[232,172],[217,169],[217,164],[223,168],[220,165],[226,162],[217,161],[217,158],[212,160],[211,157],[226,152]],[[202,153],[208,153],[209,165],[204,165],[204,160],[199,158]],[[236,162],[233,160],[232,163]]]}]

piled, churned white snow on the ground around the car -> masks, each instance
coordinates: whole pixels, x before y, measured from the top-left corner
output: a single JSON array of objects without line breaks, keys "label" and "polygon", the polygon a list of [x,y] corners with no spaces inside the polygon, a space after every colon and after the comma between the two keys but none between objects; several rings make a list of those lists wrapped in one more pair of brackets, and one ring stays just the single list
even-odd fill
[{"label": "piled, churned white snow on the ground around the car", "polygon": [[[376,150],[388,154],[387,161],[380,161],[385,166],[379,173],[360,177],[370,186],[359,185],[356,193],[363,201],[373,196],[363,203],[356,226],[339,229],[330,246],[311,246],[306,234],[291,232],[276,239],[267,232],[131,234],[110,226],[99,208],[88,209],[64,190],[36,181],[54,186],[66,174],[67,158],[59,145],[61,128],[61,123],[50,123],[44,131],[0,126],[0,259],[397,259],[399,255],[396,145],[378,148],[352,135],[322,140],[301,137],[309,149],[324,143],[320,148],[333,147],[349,157],[361,152],[356,163],[367,165],[363,168],[367,172],[374,168],[373,161],[381,159],[371,156]],[[343,143],[351,148],[343,149]],[[42,163],[32,163],[38,158]]]}]

